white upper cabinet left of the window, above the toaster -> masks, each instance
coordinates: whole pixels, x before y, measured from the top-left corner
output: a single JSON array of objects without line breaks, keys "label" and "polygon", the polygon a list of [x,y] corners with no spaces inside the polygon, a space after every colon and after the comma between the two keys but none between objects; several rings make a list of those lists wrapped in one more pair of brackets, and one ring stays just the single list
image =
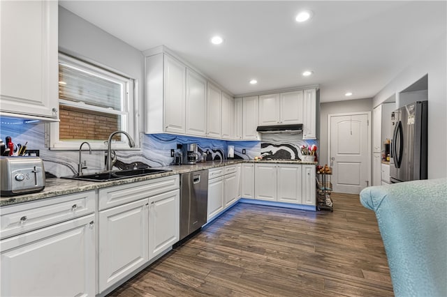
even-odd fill
[{"label": "white upper cabinet left of the window, above the toaster", "polygon": [[1,1],[2,115],[57,120],[57,1]]}]

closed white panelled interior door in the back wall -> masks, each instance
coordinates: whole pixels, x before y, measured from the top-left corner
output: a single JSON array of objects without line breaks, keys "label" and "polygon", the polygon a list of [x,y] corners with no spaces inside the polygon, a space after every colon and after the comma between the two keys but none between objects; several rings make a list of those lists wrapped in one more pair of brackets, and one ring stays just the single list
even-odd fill
[{"label": "closed white panelled interior door in the back wall", "polygon": [[371,180],[370,112],[330,114],[328,144],[334,192],[358,194]]}]

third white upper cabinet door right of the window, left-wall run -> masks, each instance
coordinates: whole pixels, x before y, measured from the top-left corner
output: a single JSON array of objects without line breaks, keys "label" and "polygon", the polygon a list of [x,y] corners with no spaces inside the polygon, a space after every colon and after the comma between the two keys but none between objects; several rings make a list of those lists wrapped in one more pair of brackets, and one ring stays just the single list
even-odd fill
[{"label": "third white upper cabinet door right of the window, left-wall run", "polygon": [[214,84],[207,84],[207,136],[221,137],[222,91]]}]

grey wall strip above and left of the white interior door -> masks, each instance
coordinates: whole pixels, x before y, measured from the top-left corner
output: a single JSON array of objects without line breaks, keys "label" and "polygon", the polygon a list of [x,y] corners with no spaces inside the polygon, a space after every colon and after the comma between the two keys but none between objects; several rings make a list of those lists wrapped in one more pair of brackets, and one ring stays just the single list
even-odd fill
[{"label": "grey wall strip above and left of the white interior door", "polygon": [[319,162],[329,164],[328,160],[328,114],[344,112],[372,112],[372,99],[345,100],[320,104],[320,149]]}]

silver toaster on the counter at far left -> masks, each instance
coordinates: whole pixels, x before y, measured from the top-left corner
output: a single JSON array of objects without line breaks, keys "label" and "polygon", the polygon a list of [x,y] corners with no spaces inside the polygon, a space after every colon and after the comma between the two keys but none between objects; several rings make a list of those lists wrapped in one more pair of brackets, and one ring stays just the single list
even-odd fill
[{"label": "silver toaster on the counter at far left", "polygon": [[0,157],[1,196],[40,192],[45,188],[45,169],[38,157]]}]

